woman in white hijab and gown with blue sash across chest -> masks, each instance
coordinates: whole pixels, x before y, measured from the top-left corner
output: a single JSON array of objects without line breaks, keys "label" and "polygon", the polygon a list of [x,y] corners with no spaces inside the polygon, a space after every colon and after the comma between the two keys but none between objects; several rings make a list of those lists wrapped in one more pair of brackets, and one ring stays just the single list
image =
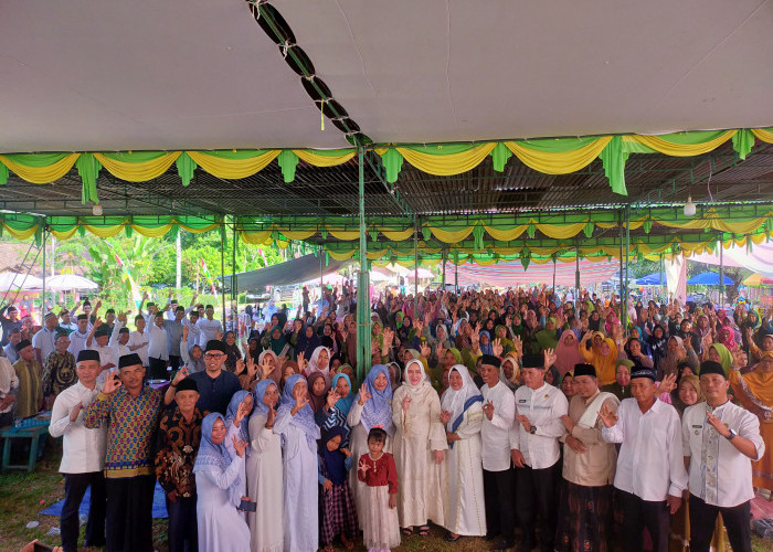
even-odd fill
[{"label": "woman in white hijab and gown with blue sash across chest", "polygon": [[483,395],[464,364],[452,367],[448,383],[441,402],[441,422],[448,442],[448,499],[444,501],[444,517],[446,541],[455,542],[460,535],[486,534],[480,458]]}]

